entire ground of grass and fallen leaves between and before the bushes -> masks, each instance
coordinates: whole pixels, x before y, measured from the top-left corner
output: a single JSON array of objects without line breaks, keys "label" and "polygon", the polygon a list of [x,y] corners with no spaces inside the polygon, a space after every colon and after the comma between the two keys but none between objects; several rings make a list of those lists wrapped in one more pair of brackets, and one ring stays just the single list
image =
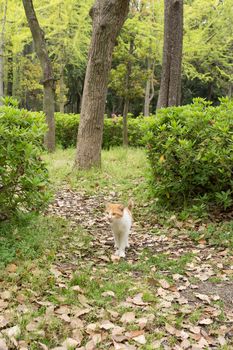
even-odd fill
[{"label": "entire ground of grass and fallen leaves between and before the bushes", "polygon": [[[233,222],[153,214],[142,150],[78,174],[73,150],[46,158],[46,213],[1,226],[0,349],[233,349]],[[118,259],[104,208],[130,197]]]}]

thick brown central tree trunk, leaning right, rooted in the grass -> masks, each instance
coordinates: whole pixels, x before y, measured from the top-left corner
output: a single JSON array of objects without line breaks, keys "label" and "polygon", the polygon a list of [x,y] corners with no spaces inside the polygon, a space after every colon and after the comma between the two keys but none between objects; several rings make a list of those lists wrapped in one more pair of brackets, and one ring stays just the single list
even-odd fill
[{"label": "thick brown central tree trunk, leaning right, rooted in the grass", "polygon": [[101,165],[107,82],[116,37],[128,13],[129,0],[96,0],[90,11],[93,33],[85,76],[75,166]]}]

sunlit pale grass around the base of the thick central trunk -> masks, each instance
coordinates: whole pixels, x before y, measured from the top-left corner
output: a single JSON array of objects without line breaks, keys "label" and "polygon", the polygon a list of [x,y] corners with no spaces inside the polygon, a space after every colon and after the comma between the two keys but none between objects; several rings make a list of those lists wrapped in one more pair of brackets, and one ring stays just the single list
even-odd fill
[{"label": "sunlit pale grass around the base of the thick central trunk", "polygon": [[122,199],[129,195],[141,197],[146,187],[145,173],[148,167],[142,149],[114,148],[102,151],[102,168],[88,171],[74,170],[75,150],[58,150],[45,155],[52,184],[57,189],[62,183],[71,188],[94,194],[97,191],[119,192]]}]

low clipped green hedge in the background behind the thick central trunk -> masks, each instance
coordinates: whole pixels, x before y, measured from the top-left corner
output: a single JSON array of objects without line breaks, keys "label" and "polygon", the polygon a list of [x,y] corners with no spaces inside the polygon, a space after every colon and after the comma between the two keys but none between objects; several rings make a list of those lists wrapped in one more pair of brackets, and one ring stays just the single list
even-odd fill
[{"label": "low clipped green hedge in the background behind the thick central trunk", "polygon": [[[129,146],[144,145],[143,138],[148,131],[153,117],[128,118]],[[75,147],[77,143],[79,114],[55,114],[56,142],[63,148]],[[123,120],[122,117],[104,118],[103,145],[104,149],[122,145]]]}]

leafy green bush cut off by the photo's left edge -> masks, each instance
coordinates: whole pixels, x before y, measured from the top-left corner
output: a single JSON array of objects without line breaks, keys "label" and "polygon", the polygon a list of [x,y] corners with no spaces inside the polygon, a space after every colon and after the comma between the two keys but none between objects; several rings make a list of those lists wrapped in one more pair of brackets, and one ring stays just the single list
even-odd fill
[{"label": "leafy green bush cut off by the photo's left edge", "polygon": [[48,198],[48,172],[40,158],[43,116],[0,107],[0,218],[40,209]]}]

